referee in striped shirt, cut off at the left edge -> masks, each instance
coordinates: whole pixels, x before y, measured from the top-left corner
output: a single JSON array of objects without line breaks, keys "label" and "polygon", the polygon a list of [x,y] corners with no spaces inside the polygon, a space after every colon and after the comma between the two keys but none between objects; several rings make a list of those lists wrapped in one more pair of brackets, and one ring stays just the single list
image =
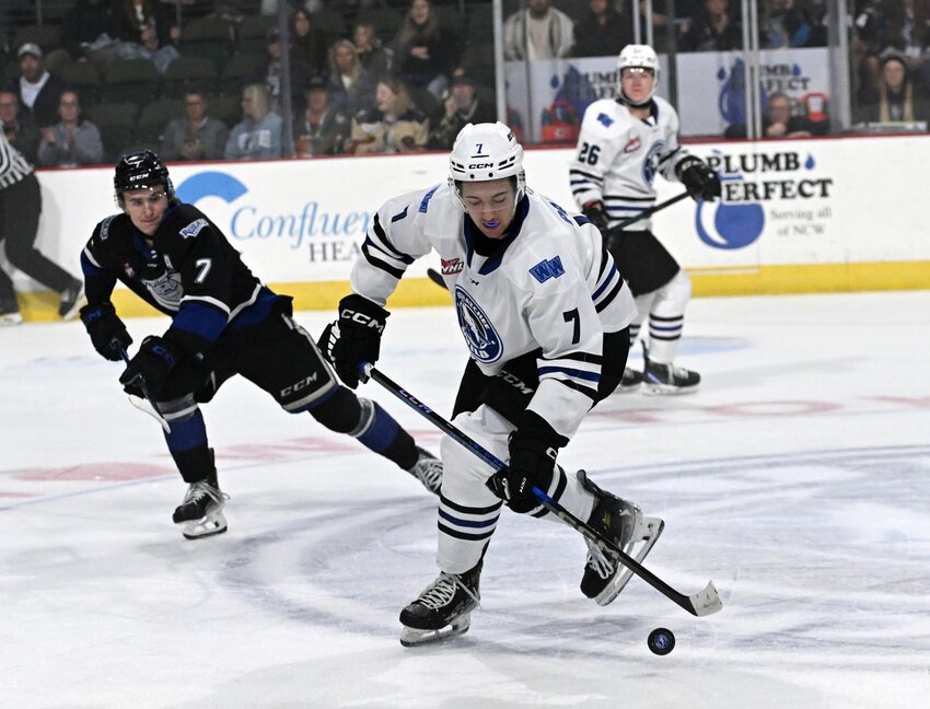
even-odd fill
[{"label": "referee in striped shirt, cut off at the left edge", "polygon": [[[35,170],[0,130],[0,245],[11,266],[61,293],[58,314],[71,319],[83,303],[84,284],[36,249],[40,213],[42,193]],[[13,281],[0,269],[0,325],[22,322]]]}]

